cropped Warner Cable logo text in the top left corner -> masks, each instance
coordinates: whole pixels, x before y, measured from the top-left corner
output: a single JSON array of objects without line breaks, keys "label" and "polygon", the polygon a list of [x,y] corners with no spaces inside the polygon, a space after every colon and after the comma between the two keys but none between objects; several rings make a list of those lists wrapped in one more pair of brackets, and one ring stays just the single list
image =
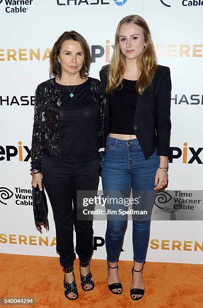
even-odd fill
[{"label": "cropped Warner Cable logo text in the top left corner", "polygon": [[[4,0],[0,0],[0,4]],[[31,6],[33,0],[5,0],[5,12],[6,13],[27,13],[29,6]]]}]

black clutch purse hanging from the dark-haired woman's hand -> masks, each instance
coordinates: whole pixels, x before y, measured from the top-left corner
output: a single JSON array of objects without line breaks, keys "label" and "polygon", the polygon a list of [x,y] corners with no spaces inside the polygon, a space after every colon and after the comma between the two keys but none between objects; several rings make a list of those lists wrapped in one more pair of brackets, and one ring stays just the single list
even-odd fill
[{"label": "black clutch purse hanging from the dark-haired woman's hand", "polygon": [[33,213],[36,226],[42,230],[40,222],[43,222],[46,229],[49,230],[49,221],[48,221],[48,205],[47,198],[44,192],[44,186],[42,184],[43,190],[39,189],[39,185],[34,188],[32,186],[32,196],[33,196]]}]

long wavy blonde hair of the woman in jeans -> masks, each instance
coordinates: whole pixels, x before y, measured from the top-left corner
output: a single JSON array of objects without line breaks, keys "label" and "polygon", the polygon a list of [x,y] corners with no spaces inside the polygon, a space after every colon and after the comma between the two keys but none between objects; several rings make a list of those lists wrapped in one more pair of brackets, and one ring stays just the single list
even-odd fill
[{"label": "long wavy blonde hair of the woman in jeans", "polygon": [[142,94],[151,84],[157,68],[154,44],[146,21],[139,15],[129,15],[124,17],[118,24],[116,30],[115,48],[108,72],[107,95],[110,95],[113,90],[121,85],[126,70],[126,59],[124,54],[121,52],[119,45],[119,29],[123,23],[132,23],[140,26],[144,34],[146,46],[143,52],[137,57],[136,61],[139,73],[136,90],[139,94]]}]

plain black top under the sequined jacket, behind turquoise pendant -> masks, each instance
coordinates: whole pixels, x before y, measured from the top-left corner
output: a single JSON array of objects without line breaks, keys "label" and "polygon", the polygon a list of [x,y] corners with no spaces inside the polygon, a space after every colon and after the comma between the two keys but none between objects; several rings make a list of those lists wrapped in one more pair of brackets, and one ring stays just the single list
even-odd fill
[{"label": "plain black top under the sequined jacket, behind turquoise pendant", "polygon": [[59,116],[61,159],[47,155],[44,158],[69,164],[98,158],[97,107],[89,94],[88,83],[89,80],[76,87],[56,83],[56,89],[62,93]]}]

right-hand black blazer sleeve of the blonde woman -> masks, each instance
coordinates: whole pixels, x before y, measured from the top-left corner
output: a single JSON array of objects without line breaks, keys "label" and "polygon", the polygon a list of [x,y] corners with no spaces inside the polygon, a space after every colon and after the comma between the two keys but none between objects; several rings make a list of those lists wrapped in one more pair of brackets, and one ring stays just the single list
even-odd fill
[{"label": "right-hand black blazer sleeve of the blonde woman", "polygon": [[170,69],[166,69],[160,76],[161,82],[159,91],[156,97],[156,110],[157,110],[157,155],[169,156],[170,146],[170,106],[171,106],[171,79]]}]

